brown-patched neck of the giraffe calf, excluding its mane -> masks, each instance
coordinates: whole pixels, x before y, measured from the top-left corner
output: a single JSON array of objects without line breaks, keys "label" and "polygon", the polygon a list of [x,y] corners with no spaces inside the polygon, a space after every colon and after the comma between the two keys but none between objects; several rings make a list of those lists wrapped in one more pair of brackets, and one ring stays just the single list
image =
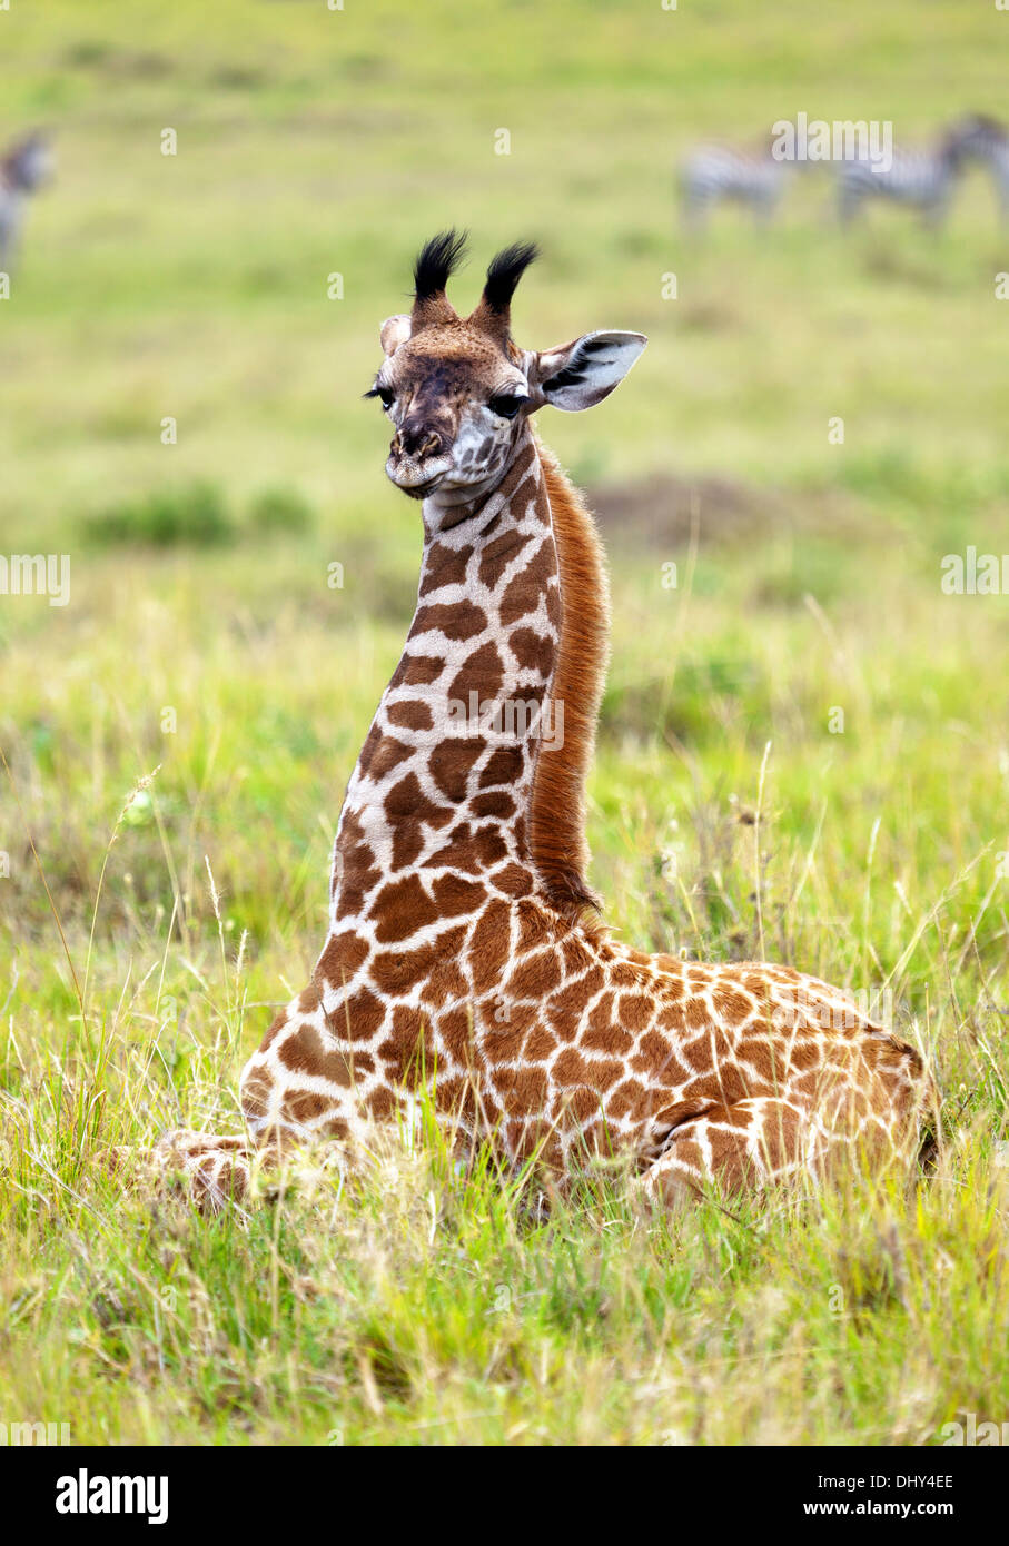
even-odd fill
[{"label": "brown-patched neck of the giraffe calf, excluding its mane", "polygon": [[417,609],[340,815],[334,931],[389,906],[443,915],[477,880],[544,892],[532,807],[538,761],[558,754],[542,748],[564,736],[559,649],[558,547],[524,424],[493,493],[448,516],[425,504]]}]

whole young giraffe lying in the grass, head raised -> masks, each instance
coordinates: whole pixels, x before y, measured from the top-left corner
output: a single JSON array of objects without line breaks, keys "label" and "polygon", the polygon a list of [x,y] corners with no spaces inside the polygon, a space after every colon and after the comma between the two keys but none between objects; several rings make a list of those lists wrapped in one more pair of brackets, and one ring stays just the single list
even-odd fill
[{"label": "whole young giraffe lying in the grass, head raised", "polygon": [[[909,1160],[924,1061],[845,993],[785,966],[646,955],[600,923],[584,784],[606,569],[532,414],[595,405],[646,339],[524,351],[510,301],[535,250],[494,258],[465,318],[445,294],[460,255],[451,232],[423,247],[368,393],[392,424],[388,476],[423,499],[423,557],[340,815],[329,932],[243,1071],[247,1144],[172,1133],[159,1163],[219,1206],[255,1152],[349,1155],[409,1119],[419,1085],[454,1146],[561,1178],[620,1150],[668,1201],[820,1175],[853,1150]],[[562,708],[552,737],[547,705],[555,728]]]}]

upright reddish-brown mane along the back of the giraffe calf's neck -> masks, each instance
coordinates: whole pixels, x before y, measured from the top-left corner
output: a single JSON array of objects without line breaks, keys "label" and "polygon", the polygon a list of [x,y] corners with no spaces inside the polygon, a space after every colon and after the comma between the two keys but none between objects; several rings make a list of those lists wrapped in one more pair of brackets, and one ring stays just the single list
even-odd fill
[{"label": "upright reddish-brown mane along the back of the giraffe calf's neck", "polygon": [[609,660],[609,580],[595,521],[553,453],[536,441],[561,570],[561,645],[550,697],[564,705],[562,745],[539,750],[530,846],[553,908],[586,926],[601,901],[589,886],[586,778]]}]

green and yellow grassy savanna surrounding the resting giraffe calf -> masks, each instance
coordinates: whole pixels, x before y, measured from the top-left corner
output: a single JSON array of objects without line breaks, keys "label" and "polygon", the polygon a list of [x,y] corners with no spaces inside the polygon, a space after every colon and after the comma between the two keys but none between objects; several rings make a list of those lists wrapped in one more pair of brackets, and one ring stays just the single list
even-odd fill
[{"label": "green and yellow grassy savanna surrounding the resting giraffe calf", "polygon": [[[1009,227],[978,169],[944,229],[839,230],[814,167],[768,229],[688,238],[674,179],[799,111],[898,142],[1004,116],[1009,12],[810,14],[0,12],[0,135],[57,155],[0,301],[0,553],[71,566],[63,608],[0,595],[0,1419],[905,1446],[1009,1419],[1009,598],[941,587],[947,555],[1009,552]],[[946,1096],[927,1181],[658,1220],[613,1166],[547,1215],[530,1178],[391,1139],[354,1186],[301,1166],[204,1218],[104,1163],[235,1132],[321,945],[420,553],[362,393],[451,224],[460,305],[541,241],[522,345],[651,339],[600,408],[538,421],[612,566],[607,918],[882,1008]]]}]

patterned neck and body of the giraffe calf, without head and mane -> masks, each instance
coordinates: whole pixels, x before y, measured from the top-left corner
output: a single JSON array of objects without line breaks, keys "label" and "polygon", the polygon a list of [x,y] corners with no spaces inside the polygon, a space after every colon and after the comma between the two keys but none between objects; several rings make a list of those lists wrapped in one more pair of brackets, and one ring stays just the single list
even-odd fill
[{"label": "patterned neck and body of the giraffe calf, without head and mane", "polygon": [[498,489],[426,532],[417,612],[340,816],[328,940],[243,1074],[253,1141],[352,1142],[420,1081],[453,1141],[539,1150],[559,1175],[623,1146],[671,1204],[711,1177],[754,1186],[859,1144],[907,1150],[922,1059],[839,989],[649,957],[550,904],[528,846],[535,734],[447,725],[470,694],[541,702],[562,618],[525,425]]}]

